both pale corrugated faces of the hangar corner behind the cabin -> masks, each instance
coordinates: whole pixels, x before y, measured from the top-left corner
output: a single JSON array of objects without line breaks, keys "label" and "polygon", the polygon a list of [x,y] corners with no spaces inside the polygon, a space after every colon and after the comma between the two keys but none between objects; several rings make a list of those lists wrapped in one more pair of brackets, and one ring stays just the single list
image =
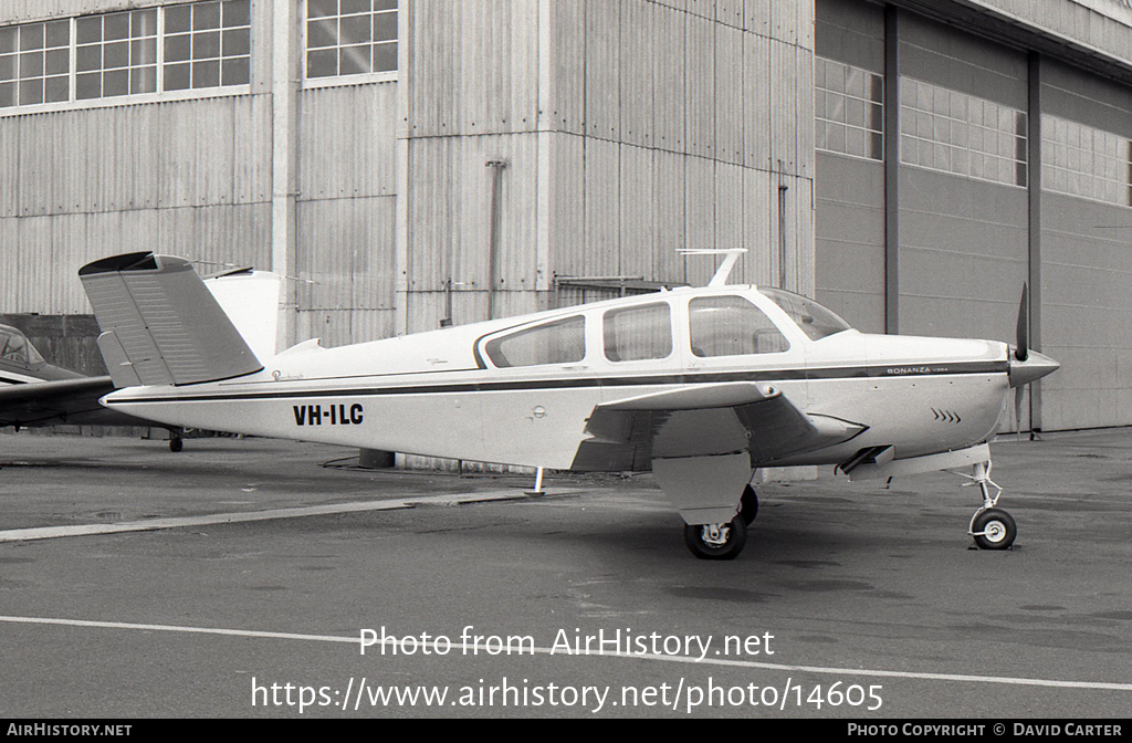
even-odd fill
[{"label": "both pale corrugated faces of the hangar corner behind the cabin", "polygon": [[[813,292],[808,2],[417,0],[410,6],[408,330],[498,314],[555,275],[705,282],[678,248],[745,247],[739,279]],[[806,126],[800,126],[806,122]],[[541,180],[540,180],[541,178]],[[541,189],[541,193],[540,193]],[[541,236],[541,237],[540,237]],[[541,241],[540,241],[541,240]]]}]

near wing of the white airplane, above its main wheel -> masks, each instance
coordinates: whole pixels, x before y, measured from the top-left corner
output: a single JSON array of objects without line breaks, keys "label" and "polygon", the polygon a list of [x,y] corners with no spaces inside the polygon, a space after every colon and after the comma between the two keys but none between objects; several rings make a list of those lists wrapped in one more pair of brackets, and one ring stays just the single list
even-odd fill
[{"label": "near wing of the white airplane, above its main wheel", "polygon": [[747,452],[752,467],[849,441],[866,429],[807,415],[753,382],[695,385],[598,405],[577,450],[577,471],[645,471],[653,459]]}]

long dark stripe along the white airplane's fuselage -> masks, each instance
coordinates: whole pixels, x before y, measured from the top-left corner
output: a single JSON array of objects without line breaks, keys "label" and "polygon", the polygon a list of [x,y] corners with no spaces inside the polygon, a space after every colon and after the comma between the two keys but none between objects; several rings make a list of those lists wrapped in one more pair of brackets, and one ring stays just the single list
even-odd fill
[{"label": "long dark stripe along the white airplane's fuselage", "polygon": [[[892,365],[835,367],[824,369],[767,369],[765,372],[692,373],[658,376],[589,377],[577,379],[523,379],[515,382],[465,382],[411,386],[355,387],[293,392],[230,392],[203,395],[161,395],[126,398],[117,403],[216,402],[238,400],[310,400],[316,398],[369,398],[413,394],[454,394],[464,392],[521,392],[531,390],[580,390],[592,387],[641,387],[671,384],[720,384],[727,382],[805,382],[857,378],[917,378],[970,374],[1005,374],[1006,361],[977,361],[937,365]],[[272,384],[272,383],[265,383]]]}]

